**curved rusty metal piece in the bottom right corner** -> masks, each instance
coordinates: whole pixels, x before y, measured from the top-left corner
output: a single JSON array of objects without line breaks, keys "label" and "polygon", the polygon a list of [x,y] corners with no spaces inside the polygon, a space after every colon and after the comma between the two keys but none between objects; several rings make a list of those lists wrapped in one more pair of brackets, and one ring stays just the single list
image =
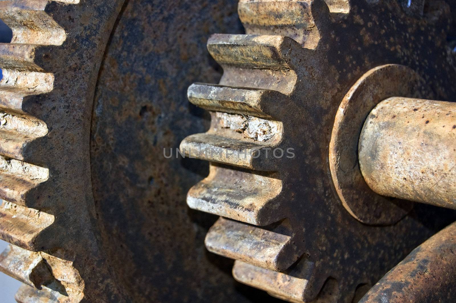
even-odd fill
[{"label": "curved rusty metal piece in the bottom right corner", "polygon": [[454,302],[456,223],[416,247],[359,303]]}]

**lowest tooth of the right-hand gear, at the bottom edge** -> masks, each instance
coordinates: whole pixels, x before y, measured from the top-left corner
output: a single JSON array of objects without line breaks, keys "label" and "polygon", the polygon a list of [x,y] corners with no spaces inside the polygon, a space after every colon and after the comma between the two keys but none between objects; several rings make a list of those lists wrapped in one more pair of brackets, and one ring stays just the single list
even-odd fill
[{"label": "lowest tooth of the right-hand gear, at the bottom edge", "polygon": [[236,261],[233,266],[233,277],[238,282],[259,288],[273,297],[293,303],[311,302],[326,280],[318,278],[318,275],[315,274],[315,264],[307,260],[300,262],[299,270],[295,267],[286,273]]}]

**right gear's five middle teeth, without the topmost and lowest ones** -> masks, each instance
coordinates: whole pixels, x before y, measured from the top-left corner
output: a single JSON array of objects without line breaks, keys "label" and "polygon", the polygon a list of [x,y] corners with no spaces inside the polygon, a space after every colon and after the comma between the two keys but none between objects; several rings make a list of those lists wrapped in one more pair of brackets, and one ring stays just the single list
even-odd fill
[{"label": "right gear's five middle teeth, without the topmost and lowest ones", "polygon": [[[187,204],[222,216],[207,233],[209,251],[270,270],[285,269],[300,253],[282,220],[282,181],[271,153],[283,133],[275,113],[288,102],[296,83],[291,54],[302,48],[283,36],[217,34],[207,49],[223,67],[221,85],[195,83],[188,98],[211,111],[211,128],[184,139],[181,151],[212,163],[207,178],[189,191]],[[253,121],[275,131],[265,140],[246,137]]]}]

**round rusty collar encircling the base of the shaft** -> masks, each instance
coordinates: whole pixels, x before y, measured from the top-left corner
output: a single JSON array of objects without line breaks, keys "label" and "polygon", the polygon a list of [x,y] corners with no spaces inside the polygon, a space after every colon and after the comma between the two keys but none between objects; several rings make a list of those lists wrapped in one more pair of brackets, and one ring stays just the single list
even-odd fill
[{"label": "round rusty collar encircling the base of the shaft", "polygon": [[364,181],[358,141],[370,111],[389,97],[429,98],[424,80],[412,69],[389,64],[366,72],[347,92],[337,110],[329,146],[332,180],[345,209],[357,220],[389,225],[402,219],[412,202],[378,195]]}]

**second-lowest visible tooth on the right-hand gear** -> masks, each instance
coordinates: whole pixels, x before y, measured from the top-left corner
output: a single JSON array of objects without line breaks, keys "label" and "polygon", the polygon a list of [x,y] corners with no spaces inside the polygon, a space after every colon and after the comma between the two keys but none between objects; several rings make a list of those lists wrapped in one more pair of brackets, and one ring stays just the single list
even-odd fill
[{"label": "second-lowest visible tooth on the right-hand gear", "polygon": [[297,260],[291,236],[223,217],[209,229],[204,242],[210,252],[276,271]]}]

